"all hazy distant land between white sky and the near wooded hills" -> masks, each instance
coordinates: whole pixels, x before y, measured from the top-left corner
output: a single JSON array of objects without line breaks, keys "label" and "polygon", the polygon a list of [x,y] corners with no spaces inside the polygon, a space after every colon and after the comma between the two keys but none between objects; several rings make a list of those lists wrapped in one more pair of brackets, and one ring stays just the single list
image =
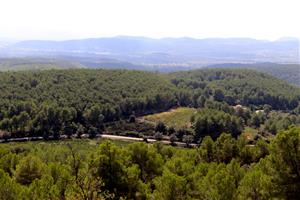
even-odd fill
[{"label": "all hazy distant land between white sky and the near wooded hills", "polygon": [[[225,63],[225,64],[224,64]],[[249,68],[300,86],[299,40],[112,37],[0,45],[0,70]]]}]

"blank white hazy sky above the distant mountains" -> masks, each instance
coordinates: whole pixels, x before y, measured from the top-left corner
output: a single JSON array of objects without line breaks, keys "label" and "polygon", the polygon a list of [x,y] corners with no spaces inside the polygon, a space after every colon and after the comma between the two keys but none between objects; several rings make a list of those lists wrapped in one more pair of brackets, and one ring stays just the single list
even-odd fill
[{"label": "blank white hazy sky above the distant mountains", "polygon": [[0,0],[0,38],[300,38],[299,0]]}]

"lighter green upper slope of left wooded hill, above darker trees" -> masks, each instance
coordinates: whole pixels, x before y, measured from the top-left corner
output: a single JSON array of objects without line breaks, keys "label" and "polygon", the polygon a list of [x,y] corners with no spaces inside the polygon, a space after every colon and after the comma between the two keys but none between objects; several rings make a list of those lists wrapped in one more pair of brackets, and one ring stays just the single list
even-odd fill
[{"label": "lighter green upper slope of left wooded hill, above darker trees", "polygon": [[36,104],[47,101],[76,109],[97,103],[116,106],[128,99],[150,100],[175,91],[161,75],[141,71],[51,70],[7,72],[0,76],[3,100],[29,100]]}]

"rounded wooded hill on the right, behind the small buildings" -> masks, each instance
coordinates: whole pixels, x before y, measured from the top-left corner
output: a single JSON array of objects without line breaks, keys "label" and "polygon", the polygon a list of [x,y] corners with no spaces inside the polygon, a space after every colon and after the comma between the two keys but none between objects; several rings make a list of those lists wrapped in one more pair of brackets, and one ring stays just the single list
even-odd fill
[{"label": "rounded wooded hill on the right, behind the small buildings", "polygon": [[211,94],[217,101],[242,105],[269,104],[274,109],[293,109],[300,89],[270,75],[253,70],[205,69],[176,72],[171,82],[192,93]]}]

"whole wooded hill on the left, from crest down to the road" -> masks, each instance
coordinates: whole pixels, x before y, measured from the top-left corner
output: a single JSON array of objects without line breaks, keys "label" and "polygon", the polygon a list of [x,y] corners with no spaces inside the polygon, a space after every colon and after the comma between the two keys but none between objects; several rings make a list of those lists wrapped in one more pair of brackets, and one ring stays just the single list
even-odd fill
[{"label": "whole wooded hill on the left, from crest down to the road", "polygon": [[0,77],[1,129],[10,133],[57,137],[80,128],[95,133],[104,122],[177,105],[175,86],[148,72],[51,70]]}]

